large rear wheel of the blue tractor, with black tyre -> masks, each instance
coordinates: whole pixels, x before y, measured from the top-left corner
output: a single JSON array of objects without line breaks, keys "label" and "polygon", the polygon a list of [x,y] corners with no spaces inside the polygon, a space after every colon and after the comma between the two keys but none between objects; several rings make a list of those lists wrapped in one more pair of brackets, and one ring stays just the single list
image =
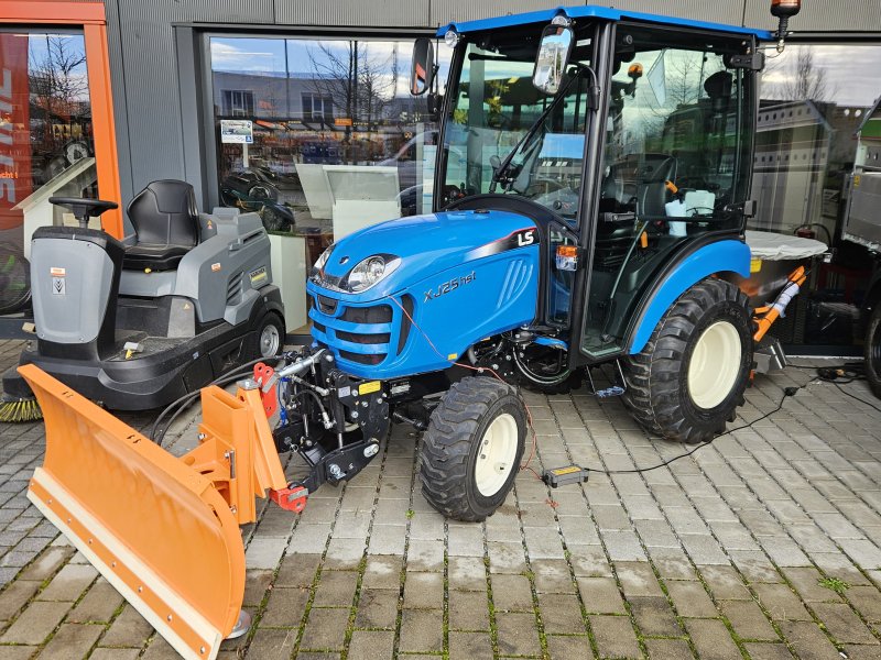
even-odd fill
[{"label": "large rear wheel of the blue tractor, with black tyre", "polygon": [[686,290],[649,343],[623,361],[624,404],[645,429],[689,444],[725,430],[752,367],[749,299],[707,278]]}]

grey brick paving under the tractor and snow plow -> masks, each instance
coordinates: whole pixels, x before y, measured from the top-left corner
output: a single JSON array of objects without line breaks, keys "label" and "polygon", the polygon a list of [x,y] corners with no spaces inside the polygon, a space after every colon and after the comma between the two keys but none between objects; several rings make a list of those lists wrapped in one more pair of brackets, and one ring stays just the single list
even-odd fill
[{"label": "grey brick paving under the tractor and snow plow", "polygon": [[[0,366],[19,344],[0,342]],[[790,369],[759,377],[741,426],[773,410]],[[872,400],[862,383],[847,392]],[[618,400],[526,395],[532,468],[654,464]],[[135,427],[150,416],[128,416]],[[813,384],[752,428],[670,468],[548,491],[530,471],[485,525],[445,521],[395,429],[355,481],[298,518],[246,530],[257,625],[226,658],[443,656],[771,660],[881,658],[881,414]],[[194,441],[194,419],[170,437]],[[41,425],[0,427],[0,660],[148,659],[173,651],[29,507]]]}]

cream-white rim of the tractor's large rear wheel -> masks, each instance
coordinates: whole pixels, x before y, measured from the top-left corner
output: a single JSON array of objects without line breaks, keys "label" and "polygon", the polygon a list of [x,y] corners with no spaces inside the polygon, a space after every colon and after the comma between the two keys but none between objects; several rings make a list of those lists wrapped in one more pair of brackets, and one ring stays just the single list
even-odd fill
[{"label": "cream-white rim of the tractor's large rear wheel", "polygon": [[688,394],[695,406],[709,409],[731,393],[740,373],[743,346],[728,321],[716,321],[704,330],[688,364]]}]

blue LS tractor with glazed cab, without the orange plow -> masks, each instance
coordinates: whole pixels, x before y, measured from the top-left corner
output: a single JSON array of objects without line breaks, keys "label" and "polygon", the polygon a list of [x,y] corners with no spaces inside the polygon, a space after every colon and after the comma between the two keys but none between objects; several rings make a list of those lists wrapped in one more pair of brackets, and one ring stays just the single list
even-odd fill
[{"label": "blue LS tractor with glazed cab, without the orange plow", "polygon": [[440,117],[433,212],[327,249],[307,284],[314,344],[280,372],[294,380],[276,442],[311,462],[301,485],[350,479],[406,422],[425,431],[427,501],[481,520],[524,452],[518,384],[566,392],[599,365],[649,432],[722,431],[753,364],[738,284],[773,35],[588,6],[437,36],[454,50],[443,98],[427,38],[411,79]]}]

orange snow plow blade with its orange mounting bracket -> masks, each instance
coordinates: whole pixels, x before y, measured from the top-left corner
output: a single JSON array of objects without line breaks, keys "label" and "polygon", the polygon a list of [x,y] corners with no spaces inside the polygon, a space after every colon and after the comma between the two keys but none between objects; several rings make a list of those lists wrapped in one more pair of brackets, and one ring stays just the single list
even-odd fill
[{"label": "orange snow plow blade with its orange mounting bracket", "polygon": [[215,658],[244,593],[239,525],[255,494],[287,485],[259,391],[203,389],[202,443],[178,459],[40,369],[19,372],[46,425],[30,501],[178,653]]}]

